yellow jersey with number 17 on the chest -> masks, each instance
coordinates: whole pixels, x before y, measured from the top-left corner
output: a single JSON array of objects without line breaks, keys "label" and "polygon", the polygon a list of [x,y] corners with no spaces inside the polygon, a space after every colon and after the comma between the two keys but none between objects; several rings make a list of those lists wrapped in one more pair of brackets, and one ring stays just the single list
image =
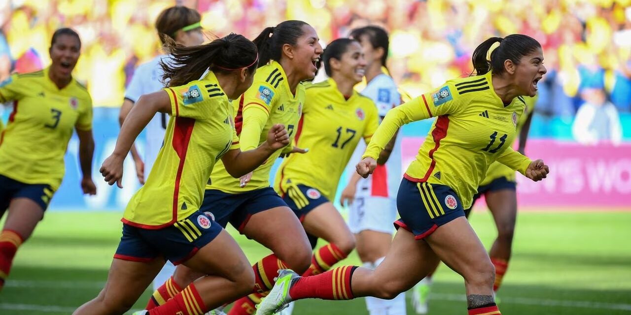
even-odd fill
[{"label": "yellow jersey with number 17 on the chest", "polygon": [[338,181],[360,139],[366,143],[379,127],[377,106],[353,91],[345,100],[333,79],[307,86],[307,100],[296,132],[295,145],[308,147],[283,161],[274,189],[286,193],[289,185],[317,188],[333,200]]}]

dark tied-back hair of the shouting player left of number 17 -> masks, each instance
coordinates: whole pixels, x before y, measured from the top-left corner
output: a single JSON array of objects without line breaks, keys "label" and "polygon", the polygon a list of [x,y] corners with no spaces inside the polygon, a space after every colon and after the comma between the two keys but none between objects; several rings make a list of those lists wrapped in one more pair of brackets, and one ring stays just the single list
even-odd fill
[{"label": "dark tied-back hair of the shouting player left of number 17", "polygon": [[269,60],[280,61],[283,45],[295,46],[298,38],[304,34],[304,21],[290,20],[279,25],[266,27],[252,42],[259,49],[259,65],[264,66]]}]

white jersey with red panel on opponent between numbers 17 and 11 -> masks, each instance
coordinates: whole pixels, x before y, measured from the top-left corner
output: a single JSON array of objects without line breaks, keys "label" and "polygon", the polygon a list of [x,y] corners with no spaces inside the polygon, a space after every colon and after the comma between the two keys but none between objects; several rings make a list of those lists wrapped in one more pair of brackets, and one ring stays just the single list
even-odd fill
[{"label": "white jersey with red panel on opponent between numbers 17 and 11", "polygon": [[[394,84],[392,77],[387,74],[379,74],[366,85],[361,92],[368,96],[377,105],[379,117],[383,118],[386,113],[401,104],[401,95]],[[353,152],[353,156],[347,167],[347,171],[355,173],[355,165],[362,160],[366,145],[360,142]],[[352,174],[352,173],[349,173]],[[365,197],[385,197],[396,200],[396,195],[401,182],[401,135],[397,136],[392,154],[384,166],[378,166],[375,173],[369,178],[361,178],[357,183],[356,198]]]}]

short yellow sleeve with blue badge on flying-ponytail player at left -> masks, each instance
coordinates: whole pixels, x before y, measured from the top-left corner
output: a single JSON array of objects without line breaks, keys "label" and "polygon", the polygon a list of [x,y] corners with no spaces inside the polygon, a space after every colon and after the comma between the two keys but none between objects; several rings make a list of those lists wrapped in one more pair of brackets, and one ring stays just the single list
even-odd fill
[{"label": "short yellow sleeve with blue badge on flying-ponytail player at left", "polygon": [[[196,120],[206,120],[213,115],[213,105],[216,101],[225,99],[225,94],[217,84],[211,81],[192,81],[183,86],[165,88],[171,101],[171,115],[173,117],[187,117]],[[227,101],[227,99],[226,99]]]}]

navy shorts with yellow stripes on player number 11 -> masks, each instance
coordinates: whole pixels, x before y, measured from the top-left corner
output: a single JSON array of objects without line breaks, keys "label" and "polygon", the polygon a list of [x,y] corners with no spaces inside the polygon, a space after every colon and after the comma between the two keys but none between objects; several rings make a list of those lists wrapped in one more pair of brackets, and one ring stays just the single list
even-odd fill
[{"label": "navy shorts with yellow stripes on player number 11", "polygon": [[401,219],[394,222],[423,239],[439,226],[464,217],[463,203],[449,186],[415,183],[406,178],[401,181],[396,206]]}]

